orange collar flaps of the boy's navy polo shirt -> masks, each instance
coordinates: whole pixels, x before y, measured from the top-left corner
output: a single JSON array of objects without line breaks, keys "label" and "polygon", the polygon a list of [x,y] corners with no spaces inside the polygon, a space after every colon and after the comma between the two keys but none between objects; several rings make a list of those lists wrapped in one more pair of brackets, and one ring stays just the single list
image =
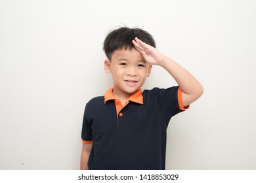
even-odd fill
[{"label": "orange collar flaps of the boy's navy polo shirt", "polygon": [[[104,95],[104,103],[109,100],[116,100],[116,98],[113,95],[114,88],[108,89],[108,91]],[[143,96],[142,96],[142,90],[141,88],[137,90],[133,95],[131,95],[128,99],[128,101],[133,101],[135,103],[143,104]]]}]

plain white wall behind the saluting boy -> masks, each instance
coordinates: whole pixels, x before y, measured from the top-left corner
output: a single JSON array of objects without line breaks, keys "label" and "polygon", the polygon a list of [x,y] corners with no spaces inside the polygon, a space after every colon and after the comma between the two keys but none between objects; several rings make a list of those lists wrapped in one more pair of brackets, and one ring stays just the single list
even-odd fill
[{"label": "plain white wall behind the saluting boy", "polygon": [[[256,169],[256,1],[0,1],[0,169],[79,169],[89,99],[112,86],[102,42],[150,32],[205,92],[168,127],[167,169]],[[153,67],[144,89],[175,86]]]}]

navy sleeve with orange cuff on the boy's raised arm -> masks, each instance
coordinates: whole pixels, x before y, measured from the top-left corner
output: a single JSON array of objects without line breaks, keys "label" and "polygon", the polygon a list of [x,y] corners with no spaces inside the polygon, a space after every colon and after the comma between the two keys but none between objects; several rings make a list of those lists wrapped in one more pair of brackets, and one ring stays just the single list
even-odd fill
[{"label": "navy sleeve with orange cuff on the boy's raised arm", "polygon": [[183,106],[181,93],[182,91],[179,86],[173,86],[167,89],[159,89],[158,100],[160,102],[161,111],[167,119],[167,122],[171,120],[172,116],[175,116],[179,112],[189,108],[189,106]]}]

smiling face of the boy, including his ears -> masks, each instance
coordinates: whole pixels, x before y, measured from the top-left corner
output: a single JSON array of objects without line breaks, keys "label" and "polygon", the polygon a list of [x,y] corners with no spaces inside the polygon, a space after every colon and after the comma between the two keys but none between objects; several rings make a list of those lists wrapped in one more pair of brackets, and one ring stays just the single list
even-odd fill
[{"label": "smiling face of the boy, including his ears", "polygon": [[142,54],[135,48],[132,50],[116,50],[111,61],[105,60],[106,73],[112,73],[115,93],[136,92],[150,76],[152,65],[146,63]]}]

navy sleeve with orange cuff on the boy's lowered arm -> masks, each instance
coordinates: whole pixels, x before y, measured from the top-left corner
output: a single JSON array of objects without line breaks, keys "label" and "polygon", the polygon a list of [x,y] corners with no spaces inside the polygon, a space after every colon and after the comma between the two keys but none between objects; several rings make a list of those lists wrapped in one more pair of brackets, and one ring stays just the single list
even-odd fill
[{"label": "navy sleeve with orange cuff on the boy's lowered arm", "polygon": [[83,144],[93,143],[93,129],[92,124],[88,120],[88,107],[86,105],[85,112],[83,114],[83,126],[81,132],[81,139]]}]

